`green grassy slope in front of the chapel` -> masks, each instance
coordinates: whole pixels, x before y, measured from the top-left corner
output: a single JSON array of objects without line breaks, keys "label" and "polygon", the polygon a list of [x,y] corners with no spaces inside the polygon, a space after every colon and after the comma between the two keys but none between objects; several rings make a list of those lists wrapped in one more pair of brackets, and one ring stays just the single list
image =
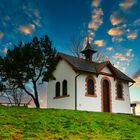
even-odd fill
[{"label": "green grassy slope in front of the chapel", "polygon": [[140,117],[0,106],[0,140],[140,140]]}]

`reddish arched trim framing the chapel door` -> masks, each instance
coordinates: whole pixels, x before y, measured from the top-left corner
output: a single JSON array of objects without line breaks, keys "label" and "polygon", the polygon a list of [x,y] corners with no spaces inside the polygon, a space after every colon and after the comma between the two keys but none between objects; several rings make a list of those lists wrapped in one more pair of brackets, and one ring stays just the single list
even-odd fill
[{"label": "reddish arched trim framing the chapel door", "polygon": [[104,94],[103,94],[103,81],[104,80],[107,80],[109,82],[109,97],[110,97],[110,112],[112,112],[112,92],[111,92],[111,82],[110,82],[110,79],[108,77],[103,77],[101,79],[101,110],[102,112],[104,112]]}]

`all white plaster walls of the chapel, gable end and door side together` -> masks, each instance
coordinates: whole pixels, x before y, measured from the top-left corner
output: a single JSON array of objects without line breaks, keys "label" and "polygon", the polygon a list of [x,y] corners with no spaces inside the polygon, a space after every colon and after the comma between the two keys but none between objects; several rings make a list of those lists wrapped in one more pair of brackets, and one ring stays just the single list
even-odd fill
[{"label": "all white plaster walls of the chapel, gable end and door side together", "polygon": [[[110,70],[105,67],[102,72],[110,73]],[[54,76],[57,80],[51,80],[48,83],[48,96],[47,96],[47,107],[48,108],[62,108],[62,109],[75,109],[75,76],[76,73],[72,67],[68,65],[64,60],[60,61],[57,65],[57,69],[54,71]],[[81,74],[77,78],[77,109],[88,110],[88,111],[102,111],[101,106],[101,79],[108,77],[99,75],[96,77],[92,75],[96,80],[96,94],[97,97],[85,96],[86,87],[85,79],[86,74]],[[108,77],[111,82],[111,104],[112,112],[114,113],[130,113],[130,96],[128,83],[123,83],[124,88],[124,100],[116,99],[116,80],[113,77]],[[54,99],[55,97],[55,83],[59,81],[61,83],[61,94],[62,94],[62,81],[67,80],[68,82],[68,94],[69,97]]]}]

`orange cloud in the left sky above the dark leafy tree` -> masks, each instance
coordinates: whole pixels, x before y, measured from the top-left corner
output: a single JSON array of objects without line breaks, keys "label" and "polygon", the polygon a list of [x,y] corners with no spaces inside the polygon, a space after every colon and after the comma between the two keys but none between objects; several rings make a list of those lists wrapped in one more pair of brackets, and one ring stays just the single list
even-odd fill
[{"label": "orange cloud in the left sky above the dark leafy tree", "polygon": [[20,25],[19,30],[26,35],[32,34],[32,32],[35,30],[35,25],[34,24]]}]

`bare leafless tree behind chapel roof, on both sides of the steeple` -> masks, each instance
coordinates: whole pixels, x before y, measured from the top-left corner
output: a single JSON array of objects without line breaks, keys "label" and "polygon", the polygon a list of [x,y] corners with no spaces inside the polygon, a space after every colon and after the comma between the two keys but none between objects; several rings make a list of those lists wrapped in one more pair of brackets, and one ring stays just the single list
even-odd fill
[{"label": "bare leafless tree behind chapel roof, on both sides of the steeple", "polygon": [[[91,44],[93,44],[94,49],[97,50],[97,53],[94,54],[93,56],[93,61],[96,62],[108,61],[108,57],[103,55],[101,53],[101,50],[99,50],[99,48],[95,46],[93,42],[91,42]],[[85,45],[86,45],[85,38],[81,36],[73,36],[72,39],[70,40],[70,47],[68,48],[68,50],[70,51],[70,53],[72,53],[73,56],[80,58],[82,56],[80,52],[83,49],[83,46]]]}]

